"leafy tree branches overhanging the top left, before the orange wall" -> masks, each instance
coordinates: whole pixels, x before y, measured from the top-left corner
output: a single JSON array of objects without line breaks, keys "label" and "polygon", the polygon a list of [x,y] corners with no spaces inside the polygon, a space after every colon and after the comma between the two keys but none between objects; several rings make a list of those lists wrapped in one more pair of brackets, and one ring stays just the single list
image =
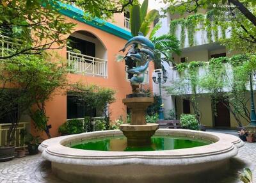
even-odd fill
[{"label": "leafy tree branches overhanging the top left, before the orange wall", "polygon": [[[84,12],[84,19],[95,17],[109,19],[113,13],[136,3],[136,0],[7,0],[0,1],[0,35],[9,36],[12,48],[8,54],[0,55],[0,60],[19,54],[40,54],[46,49],[60,49],[65,45],[63,35],[69,34],[75,24],[65,21],[59,10],[67,7],[61,3],[74,3]],[[42,6],[44,8],[42,8]]]}]

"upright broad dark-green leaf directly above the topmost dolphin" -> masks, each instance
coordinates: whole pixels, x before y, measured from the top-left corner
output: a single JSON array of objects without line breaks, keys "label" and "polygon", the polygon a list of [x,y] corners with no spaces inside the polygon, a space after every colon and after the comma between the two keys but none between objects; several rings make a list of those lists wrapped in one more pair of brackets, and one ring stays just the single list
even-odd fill
[{"label": "upright broad dark-green leaf directly above the topmost dolphin", "polygon": [[131,13],[130,25],[131,25],[132,36],[138,36],[138,32],[140,31],[140,26],[141,26],[140,5],[132,6],[130,13]]}]

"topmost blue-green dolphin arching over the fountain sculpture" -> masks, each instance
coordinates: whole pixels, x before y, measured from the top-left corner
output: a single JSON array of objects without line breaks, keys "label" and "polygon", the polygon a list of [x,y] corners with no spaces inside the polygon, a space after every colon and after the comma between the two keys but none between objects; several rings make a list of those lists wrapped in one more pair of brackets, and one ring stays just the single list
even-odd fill
[{"label": "topmost blue-green dolphin arching over the fountain sculpture", "polygon": [[141,44],[144,47],[148,47],[148,49],[152,49],[152,50],[155,49],[155,45],[150,40],[148,40],[148,38],[143,36],[142,33],[138,33],[138,36],[134,36],[133,38],[128,40],[127,43],[124,45],[124,48],[121,49],[120,51],[125,52],[125,49],[132,44]]}]

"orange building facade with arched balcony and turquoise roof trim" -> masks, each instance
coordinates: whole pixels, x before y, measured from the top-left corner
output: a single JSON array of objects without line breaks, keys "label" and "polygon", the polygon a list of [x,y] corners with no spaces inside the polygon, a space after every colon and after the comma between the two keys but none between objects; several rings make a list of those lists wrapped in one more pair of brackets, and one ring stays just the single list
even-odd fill
[{"label": "orange building facade with arched balcony and turquoise roof trim", "polygon": [[[131,86],[125,72],[125,62],[117,62],[116,55],[120,54],[118,51],[132,37],[129,31],[129,12],[115,14],[113,20],[109,20],[109,22],[103,22],[100,19],[89,22],[83,19],[84,12],[79,8],[68,4],[61,4],[61,6],[65,6],[59,10],[65,20],[76,24],[72,33],[65,35],[68,46],[56,50],[58,56],[67,60],[67,65],[72,70],[67,75],[68,82],[97,84],[115,90],[116,100],[109,105],[110,120],[116,120],[120,116],[125,117],[127,108],[122,103],[122,99],[131,93]],[[150,87],[152,81],[148,78],[152,77],[153,70],[154,65],[150,63],[143,83],[145,88],[152,89]],[[102,111],[97,111],[97,109],[84,111],[81,107],[76,106],[72,103],[72,96],[68,92],[54,95],[51,100],[47,101],[45,109],[46,115],[49,117],[48,124],[51,125],[52,137],[60,135],[58,127],[70,118],[83,118],[84,113],[93,113],[95,117],[102,116]],[[21,128],[35,132],[33,125],[30,127],[31,120],[28,115],[22,116],[20,122],[22,123]],[[8,127],[4,127],[3,130],[3,126],[1,125],[0,132],[4,136]],[[19,131],[17,131],[17,135],[19,135]],[[46,138],[44,133],[41,135]]]}]

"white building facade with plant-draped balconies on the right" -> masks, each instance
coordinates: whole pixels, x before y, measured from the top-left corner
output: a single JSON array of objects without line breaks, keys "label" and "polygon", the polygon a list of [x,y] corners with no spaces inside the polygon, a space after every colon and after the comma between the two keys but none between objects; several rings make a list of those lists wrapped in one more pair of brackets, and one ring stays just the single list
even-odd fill
[{"label": "white building facade with plant-draped balconies on the right", "polygon": [[[173,61],[174,63],[189,63],[191,61],[204,61],[205,65],[209,63],[211,58],[219,58],[223,56],[231,57],[234,54],[238,54],[239,52],[235,51],[228,51],[225,46],[220,45],[218,40],[222,37],[230,36],[230,32],[228,30],[223,30],[221,28],[217,28],[217,30],[207,31],[203,28],[203,22],[207,19],[207,12],[200,11],[197,15],[190,15],[194,16],[193,18],[199,17],[202,19],[202,23],[193,25],[192,30],[191,27],[186,26],[184,24],[185,21],[188,21],[188,14],[183,15],[180,17],[179,15],[168,15],[168,17],[162,19],[161,21],[167,22],[163,24],[166,26],[165,29],[162,30],[161,33],[173,33],[173,35],[177,36],[180,40],[180,47],[181,47],[181,54],[173,54]],[[164,87],[172,86],[173,83],[179,81],[180,73],[178,72],[175,65],[168,65],[165,63],[164,67],[167,71],[168,81],[165,84],[162,84],[162,97],[163,97],[163,104],[164,104],[164,115],[168,118],[168,113],[170,111],[174,111],[175,116],[179,119],[180,114],[182,113],[191,113],[193,114],[193,106],[191,102],[189,102],[189,97],[191,99],[191,87],[187,88],[187,91],[176,93],[175,95],[168,95],[164,90]],[[229,73],[230,77],[232,76],[232,69],[230,69],[230,65],[225,65],[227,72]],[[157,72],[162,72],[161,70],[154,70],[153,75],[157,76]],[[185,70],[186,72],[186,70]],[[204,76],[207,72],[207,68],[199,67],[198,68],[198,75]],[[218,79],[218,78],[216,78]],[[180,83],[181,86],[181,83]],[[249,86],[249,83],[248,83]],[[186,90],[184,88],[184,90]],[[248,87],[249,90],[249,87]],[[154,93],[159,93],[159,85],[153,83],[153,91]],[[227,92],[230,89],[227,88]],[[220,127],[220,128],[234,128],[238,124],[234,115],[232,115],[231,111],[223,105],[223,102],[217,102],[216,106],[213,106],[211,93],[207,91],[200,91],[202,95],[197,97],[196,103],[198,104],[198,108],[202,115],[200,115],[200,122],[202,125],[207,127]],[[250,109],[250,93],[246,93],[246,97],[249,100],[248,102],[248,109]],[[241,120],[243,125],[248,125],[246,120]]]}]

